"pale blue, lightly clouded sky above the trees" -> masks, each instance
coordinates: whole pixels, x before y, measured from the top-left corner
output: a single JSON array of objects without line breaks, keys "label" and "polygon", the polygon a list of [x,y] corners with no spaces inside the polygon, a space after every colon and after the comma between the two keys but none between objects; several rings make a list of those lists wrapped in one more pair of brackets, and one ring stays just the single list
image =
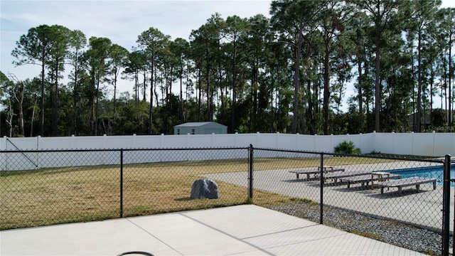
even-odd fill
[{"label": "pale blue, lightly clouded sky above the trees", "polygon": [[[151,27],[171,39],[189,41],[191,31],[202,26],[215,13],[222,18],[256,14],[270,17],[272,1],[267,0],[0,0],[0,70],[19,80],[40,75],[38,65],[15,67],[11,51],[28,29],[43,24],[61,25],[80,30],[85,36],[106,37],[127,50],[137,46],[137,36]],[[455,7],[455,1],[443,0],[441,7]],[[65,72],[68,78],[69,70]],[[345,98],[355,92],[346,88]],[[131,82],[119,82],[118,92],[131,91]],[[0,106],[1,107],[1,106]],[[342,108],[347,108],[346,102]]]}]

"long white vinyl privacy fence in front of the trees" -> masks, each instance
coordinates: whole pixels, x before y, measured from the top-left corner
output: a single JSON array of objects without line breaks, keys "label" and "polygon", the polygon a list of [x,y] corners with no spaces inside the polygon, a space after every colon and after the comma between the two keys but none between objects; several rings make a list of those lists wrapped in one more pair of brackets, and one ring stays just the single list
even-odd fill
[{"label": "long white vinyl privacy fence in front of the trees", "polygon": [[[333,153],[341,142],[353,142],[362,154],[371,152],[416,156],[455,155],[454,133],[378,133],[346,135],[306,134],[186,134],[186,135],[132,135],[94,137],[27,137],[0,138],[0,170],[39,169],[61,166],[80,166],[81,154],[97,154],[83,165],[119,164],[118,149],[154,149],[150,157],[129,158],[124,164],[159,161],[195,161],[213,159],[210,150],[205,154],[191,154],[188,149],[255,148],[284,149]],[[92,149],[95,151],[85,151]],[[116,149],[112,151],[112,149]],[[160,149],[160,150],[158,150]],[[183,150],[185,149],[185,150]],[[60,151],[55,153],[53,151]],[[61,151],[65,150],[65,151]],[[82,151],[75,151],[82,150]],[[11,151],[26,151],[11,154]],[[33,152],[39,151],[39,152]],[[247,158],[246,151],[224,154],[228,158]],[[77,154],[77,156],[76,156]],[[157,157],[158,156],[158,157]],[[195,158],[196,157],[196,158]],[[259,156],[260,157],[260,156]],[[279,157],[279,153],[277,153]],[[41,159],[46,159],[45,164]],[[154,160],[157,161],[157,160]],[[21,166],[16,163],[21,162]],[[77,162],[77,164],[75,164]],[[23,163],[27,163],[23,166]]]}]

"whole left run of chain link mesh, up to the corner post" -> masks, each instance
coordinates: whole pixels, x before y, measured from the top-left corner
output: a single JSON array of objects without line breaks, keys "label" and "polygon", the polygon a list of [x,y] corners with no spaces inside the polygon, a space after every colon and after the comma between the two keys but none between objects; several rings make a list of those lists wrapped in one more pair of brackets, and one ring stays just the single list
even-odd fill
[{"label": "whole left run of chain link mesh, up to the corner post", "polygon": [[247,202],[247,179],[216,181],[217,200],[190,198],[193,182],[208,174],[246,173],[246,148],[2,154],[1,230]]}]

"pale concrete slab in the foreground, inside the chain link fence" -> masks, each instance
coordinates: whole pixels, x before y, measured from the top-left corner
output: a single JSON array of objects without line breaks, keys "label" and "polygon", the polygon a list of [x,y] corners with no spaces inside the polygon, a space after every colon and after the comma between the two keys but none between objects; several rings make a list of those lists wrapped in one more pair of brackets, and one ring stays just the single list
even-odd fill
[{"label": "pale concrete slab in the foreground, inside the chain link fence", "polygon": [[254,205],[0,232],[0,255],[421,255]]}]

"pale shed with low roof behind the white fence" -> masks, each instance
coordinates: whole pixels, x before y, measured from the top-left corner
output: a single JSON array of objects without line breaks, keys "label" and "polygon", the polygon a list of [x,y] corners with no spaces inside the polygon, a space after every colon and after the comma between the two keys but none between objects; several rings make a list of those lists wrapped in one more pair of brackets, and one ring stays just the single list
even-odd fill
[{"label": "pale shed with low roof behind the white fence", "polygon": [[216,122],[187,122],[173,127],[173,134],[227,134],[228,127]]}]

